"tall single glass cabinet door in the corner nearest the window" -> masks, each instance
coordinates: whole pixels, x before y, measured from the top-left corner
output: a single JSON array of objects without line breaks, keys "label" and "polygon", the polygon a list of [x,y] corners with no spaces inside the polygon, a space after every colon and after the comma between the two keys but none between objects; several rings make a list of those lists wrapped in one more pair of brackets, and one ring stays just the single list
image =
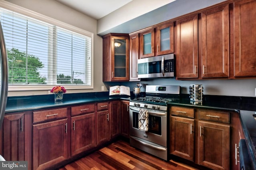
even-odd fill
[{"label": "tall single glass cabinet door in the corner nearest the window", "polygon": [[129,40],[128,38],[113,38],[112,79],[129,80]]}]

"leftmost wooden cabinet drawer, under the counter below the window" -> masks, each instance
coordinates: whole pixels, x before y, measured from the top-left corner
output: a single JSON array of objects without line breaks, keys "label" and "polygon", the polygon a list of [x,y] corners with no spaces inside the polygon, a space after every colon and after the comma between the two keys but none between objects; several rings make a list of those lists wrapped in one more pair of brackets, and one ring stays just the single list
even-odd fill
[{"label": "leftmost wooden cabinet drawer, under the counter below the window", "polygon": [[34,111],[33,123],[50,119],[56,119],[60,117],[67,117],[67,108]]}]

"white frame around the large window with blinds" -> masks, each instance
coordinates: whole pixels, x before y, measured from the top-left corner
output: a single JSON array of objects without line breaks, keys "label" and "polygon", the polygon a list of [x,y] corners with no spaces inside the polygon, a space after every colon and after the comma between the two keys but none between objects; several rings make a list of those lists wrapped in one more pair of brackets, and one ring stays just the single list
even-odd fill
[{"label": "white frame around the large window with blinds", "polygon": [[[48,16],[44,16],[32,10],[28,10],[26,8],[17,6],[15,4],[11,4],[9,2],[0,1],[1,8],[5,8],[7,10],[17,12],[19,14],[28,16],[30,18],[34,18],[37,20],[44,21],[46,23],[56,25],[57,27],[61,27],[68,31],[72,31],[81,35],[85,35],[91,38],[91,85],[67,85],[65,84],[65,88],[67,90],[81,90],[81,89],[93,89],[94,88],[94,33],[86,31],[84,29],[80,29],[68,23],[64,23],[62,21],[56,20],[54,18],[50,18]],[[32,90],[50,90],[54,85],[12,85],[8,86],[8,91],[32,91]]]}]

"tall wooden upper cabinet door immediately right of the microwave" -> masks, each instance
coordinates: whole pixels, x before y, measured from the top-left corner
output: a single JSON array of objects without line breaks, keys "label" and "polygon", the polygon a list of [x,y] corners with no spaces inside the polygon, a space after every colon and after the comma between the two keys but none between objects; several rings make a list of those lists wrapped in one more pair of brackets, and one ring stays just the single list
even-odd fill
[{"label": "tall wooden upper cabinet door immediately right of the microwave", "polygon": [[198,78],[198,14],[177,21],[176,78]]}]

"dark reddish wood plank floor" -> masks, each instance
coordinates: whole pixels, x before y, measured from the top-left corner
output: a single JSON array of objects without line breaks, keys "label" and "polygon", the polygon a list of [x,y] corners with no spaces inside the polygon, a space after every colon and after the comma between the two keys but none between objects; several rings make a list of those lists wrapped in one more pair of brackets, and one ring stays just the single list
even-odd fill
[{"label": "dark reddish wood plank floor", "polygon": [[185,164],[164,161],[124,141],[117,141],[59,170],[196,170]]}]

